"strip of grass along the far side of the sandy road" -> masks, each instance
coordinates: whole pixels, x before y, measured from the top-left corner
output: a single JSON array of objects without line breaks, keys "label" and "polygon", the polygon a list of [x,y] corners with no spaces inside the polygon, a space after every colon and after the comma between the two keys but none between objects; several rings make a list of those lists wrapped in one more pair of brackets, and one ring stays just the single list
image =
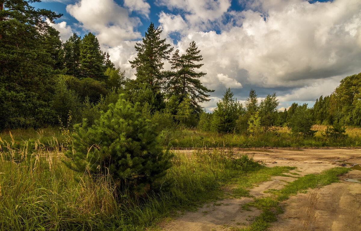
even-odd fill
[{"label": "strip of grass along the far side of the sandy road", "polygon": [[[313,129],[324,130],[324,126],[314,126]],[[0,137],[11,140],[10,132],[18,148],[25,146],[25,142],[34,143],[38,141],[44,148],[54,150],[62,146],[65,138],[61,135],[58,127],[34,129],[13,129],[0,133]],[[360,129],[348,128],[348,137],[325,138],[318,132],[315,137],[303,137],[292,135],[286,128],[271,128],[256,137],[249,137],[242,134],[220,134],[217,132],[201,132],[199,130],[173,130],[166,132],[167,143],[170,140],[174,148],[216,148],[216,147],[358,147],[361,146]],[[34,148],[30,146],[29,148]]]}]

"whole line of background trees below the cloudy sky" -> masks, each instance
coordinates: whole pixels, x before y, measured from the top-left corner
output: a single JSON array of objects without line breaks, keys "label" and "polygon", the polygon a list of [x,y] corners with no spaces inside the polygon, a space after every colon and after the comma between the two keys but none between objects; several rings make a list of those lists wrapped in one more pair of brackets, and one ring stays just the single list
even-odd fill
[{"label": "whole line of background trees below the cloudy sky", "polygon": [[[95,35],[74,33],[62,43],[59,32],[44,21],[61,15],[35,9],[31,2],[0,2],[0,130],[64,124],[69,117],[73,123],[87,119],[92,124],[120,94],[133,105],[139,103],[138,110],[160,130],[188,127],[252,135],[260,127],[291,126],[312,134],[313,124],[361,126],[361,74],[345,77],[312,108],[293,103],[279,112],[276,93],[258,102],[253,89],[242,105],[227,89],[207,113],[201,103],[214,90],[200,81],[206,73],[199,71],[203,58],[194,41],[181,54],[151,23],[130,61],[136,78],[128,79],[100,49]],[[164,70],[164,62],[171,70]]]}]

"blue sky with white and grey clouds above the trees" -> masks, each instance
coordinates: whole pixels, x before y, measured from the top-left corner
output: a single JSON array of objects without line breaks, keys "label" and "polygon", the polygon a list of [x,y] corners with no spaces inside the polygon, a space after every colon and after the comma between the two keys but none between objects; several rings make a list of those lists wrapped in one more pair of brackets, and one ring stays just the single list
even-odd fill
[{"label": "blue sky with white and grey clouds above the trees", "polygon": [[[226,89],[244,103],[276,92],[279,110],[312,107],[346,76],[361,72],[361,1],[304,0],[43,0],[63,16],[51,24],[63,41],[92,32],[110,59],[134,78],[129,60],[151,22],[182,54],[201,50],[212,111]],[[170,69],[165,62],[165,70]]]}]

